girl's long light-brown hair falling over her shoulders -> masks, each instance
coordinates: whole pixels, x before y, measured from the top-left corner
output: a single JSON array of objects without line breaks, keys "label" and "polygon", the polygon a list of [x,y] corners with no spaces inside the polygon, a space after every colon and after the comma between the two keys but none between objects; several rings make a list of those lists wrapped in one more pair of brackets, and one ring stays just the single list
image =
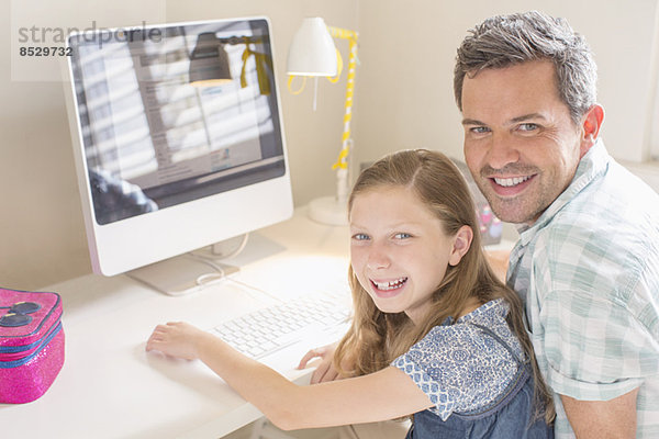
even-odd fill
[{"label": "girl's long light-brown hair falling over her shoulders", "polygon": [[425,320],[414,325],[405,313],[383,313],[349,270],[355,317],[348,333],[340,340],[334,365],[344,376],[372,373],[388,367],[405,353],[433,327],[447,317],[455,322],[466,309],[471,297],[480,304],[503,297],[510,305],[506,320],[520,339],[526,358],[533,365],[537,413],[547,420],[554,417],[551,394],[545,385],[524,327],[522,302],[494,274],[481,247],[479,224],[471,193],[458,168],[445,155],[425,149],[404,150],[389,155],[361,172],[348,200],[350,211],[355,198],[382,187],[404,187],[440,219],[444,233],[455,236],[467,225],[473,230],[471,247],[457,266],[449,266],[442,283],[432,297],[432,308]]}]

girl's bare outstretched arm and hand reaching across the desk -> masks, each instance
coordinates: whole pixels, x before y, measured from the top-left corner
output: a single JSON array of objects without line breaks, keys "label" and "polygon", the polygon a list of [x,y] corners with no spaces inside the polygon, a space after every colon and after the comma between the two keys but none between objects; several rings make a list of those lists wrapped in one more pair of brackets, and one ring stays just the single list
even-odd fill
[{"label": "girl's bare outstretched arm and hand reaching across the desk", "polygon": [[185,323],[158,326],[146,350],[200,359],[284,430],[393,419],[433,405],[407,375],[393,367],[369,375],[299,386],[220,338]]}]

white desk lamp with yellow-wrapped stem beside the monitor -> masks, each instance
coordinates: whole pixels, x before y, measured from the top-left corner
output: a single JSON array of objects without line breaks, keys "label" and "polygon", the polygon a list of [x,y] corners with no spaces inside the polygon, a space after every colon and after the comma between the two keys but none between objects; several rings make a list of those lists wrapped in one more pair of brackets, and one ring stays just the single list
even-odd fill
[{"label": "white desk lamp with yellow-wrapped stem beside the monitor", "polygon": [[[343,143],[338,158],[332,167],[332,169],[336,170],[336,195],[312,200],[309,203],[309,216],[323,224],[345,225],[348,222],[348,155],[353,148],[350,119],[353,117],[353,93],[357,66],[357,32],[327,26],[324,20],[319,16],[304,19],[289,47],[287,72],[289,75],[289,89],[294,76],[304,77],[304,80],[306,80],[306,77],[314,78],[315,90],[313,102],[315,110],[317,78],[324,76],[330,81],[336,82],[343,67],[340,54],[334,45],[333,37],[347,40],[349,44]],[[293,93],[298,94],[301,91],[293,91]]]}]

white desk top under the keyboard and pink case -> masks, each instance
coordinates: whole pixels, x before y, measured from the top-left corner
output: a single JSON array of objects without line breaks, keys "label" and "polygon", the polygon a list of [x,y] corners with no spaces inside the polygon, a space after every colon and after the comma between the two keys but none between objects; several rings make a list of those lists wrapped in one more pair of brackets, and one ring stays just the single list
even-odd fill
[{"label": "white desk top under the keyboard and pink case", "polygon": [[[283,299],[319,280],[345,275],[347,227],[328,227],[298,210],[253,235],[233,262],[237,280]],[[124,275],[86,275],[44,291],[63,297],[64,368],[48,392],[25,405],[0,405],[2,438],[217,438],[261,414],[200,362],[146,353],[153,328],[187,320],[210,328],[275,302],[231,281],[169,297]],[[289,379],[304,347],[273,360]]]}]

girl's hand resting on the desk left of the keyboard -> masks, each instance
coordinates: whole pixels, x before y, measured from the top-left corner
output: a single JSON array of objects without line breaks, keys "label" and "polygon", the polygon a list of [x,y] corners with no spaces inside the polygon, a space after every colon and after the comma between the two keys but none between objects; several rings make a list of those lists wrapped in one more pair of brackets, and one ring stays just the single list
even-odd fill
[{"label": "girl's hand resting on the desk left of the keyboard", "polygon": [[196,360],[199,358],[199,342],[211,336],[192,325],[182,322],[158,325],[146,342],[146,350],[159,350],[168,356]]}]

